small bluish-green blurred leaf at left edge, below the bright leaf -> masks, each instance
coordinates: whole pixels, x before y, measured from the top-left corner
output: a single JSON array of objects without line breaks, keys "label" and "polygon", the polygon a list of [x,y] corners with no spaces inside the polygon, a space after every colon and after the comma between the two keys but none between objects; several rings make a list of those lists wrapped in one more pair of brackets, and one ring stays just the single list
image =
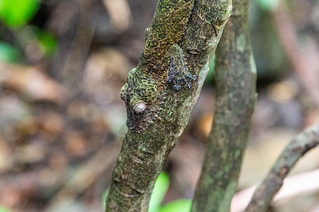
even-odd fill
[{"label": "small bluish-green blurred leaf at left edge, below the bright leaf", "polygon": [[0,42],[0,60],[6,63],[14,63],[21,59],[21,52],[5,42]]}]

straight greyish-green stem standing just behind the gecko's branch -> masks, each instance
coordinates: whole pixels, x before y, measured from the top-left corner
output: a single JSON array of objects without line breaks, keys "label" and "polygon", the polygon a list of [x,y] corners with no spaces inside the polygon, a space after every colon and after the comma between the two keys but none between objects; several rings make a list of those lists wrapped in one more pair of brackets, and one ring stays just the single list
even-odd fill
[{"label": "straight greyish-green stem standing just behind the gecko's branch", "polygon": [[233,1],[216,50],[216,111],[191,211],[230,211],[237,187],[257,98],[248,4]]}]

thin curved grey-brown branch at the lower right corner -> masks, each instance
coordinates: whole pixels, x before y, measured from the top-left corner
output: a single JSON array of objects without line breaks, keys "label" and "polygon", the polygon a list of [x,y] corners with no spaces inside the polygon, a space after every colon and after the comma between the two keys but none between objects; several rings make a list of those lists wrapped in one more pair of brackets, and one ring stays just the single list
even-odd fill
[{"label": "thin curved grey-brown branch at the lower right corner", "polygon": [[319,145],[319,125],[312,126],[293,139],[282,151],[264,182],[256,189],[245,212],[266,211],[289,171],[310,149]]}]

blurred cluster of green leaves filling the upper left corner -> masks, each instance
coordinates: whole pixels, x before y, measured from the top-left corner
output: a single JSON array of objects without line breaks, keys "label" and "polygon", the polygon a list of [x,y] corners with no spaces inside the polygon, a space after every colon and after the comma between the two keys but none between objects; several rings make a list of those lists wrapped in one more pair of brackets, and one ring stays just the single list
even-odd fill
[{"label": "blurred cluster of green leaves filling the upper left corner", "polygon": [[[23,59],[28,45],[33,44],[40,57],[52,57],[57,50],[57,40],[47,30],[28,25],[40,8],[40,0],[0,0],[0,20],[13,35],[13,44],[0,42],[0,60],[16,63]],[[1,26],[1,25],[0,25]],[[7,37],[0,37],[6,40]],[[29,52],[31,55],[33,52]],[[34,58],[33,58],[34,59]],[[38,59],[38,58],[37,58]]]}]

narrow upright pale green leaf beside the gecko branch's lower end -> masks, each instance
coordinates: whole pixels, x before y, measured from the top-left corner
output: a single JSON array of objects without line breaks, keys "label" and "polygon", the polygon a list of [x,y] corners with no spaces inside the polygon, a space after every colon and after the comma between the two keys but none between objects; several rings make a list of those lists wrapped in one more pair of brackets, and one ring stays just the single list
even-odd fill
[{"label": "narrow upright pale green leaf beside the gecko branch's lower end", "polygon": [[152,196],[150,198],[150,205],[148,208],[148,212],[157,212],[161,207],[164,196],[169,187],[169,177],[167,174],[162,172],[155,182],[155,186],[152,192]]}]

